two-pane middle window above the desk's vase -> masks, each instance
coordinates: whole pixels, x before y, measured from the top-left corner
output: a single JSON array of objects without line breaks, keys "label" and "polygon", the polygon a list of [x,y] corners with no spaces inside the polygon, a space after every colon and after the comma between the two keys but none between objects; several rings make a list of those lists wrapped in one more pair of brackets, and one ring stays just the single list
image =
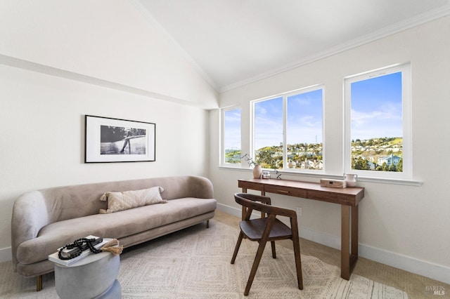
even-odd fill
[{"label": "two-pane middle window above the desk's vase", "polygon": [[253,149],[262,168],[322,171],[323,88],[252,102]]}]

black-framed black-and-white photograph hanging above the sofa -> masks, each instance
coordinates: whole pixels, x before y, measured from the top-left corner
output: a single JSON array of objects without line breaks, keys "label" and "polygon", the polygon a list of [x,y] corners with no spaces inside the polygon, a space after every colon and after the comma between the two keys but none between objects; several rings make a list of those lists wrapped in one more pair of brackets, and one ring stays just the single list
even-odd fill
[{"label": "black-framed black-and-white photograph hanging above the sofa", "polygon": [[156,125],[86,115],[84,163],[155,161]]}]

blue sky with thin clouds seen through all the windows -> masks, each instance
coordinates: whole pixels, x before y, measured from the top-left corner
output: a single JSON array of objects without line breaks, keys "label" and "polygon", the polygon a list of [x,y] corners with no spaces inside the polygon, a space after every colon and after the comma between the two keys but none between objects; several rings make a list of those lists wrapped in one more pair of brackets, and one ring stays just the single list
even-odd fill
[{"label": "blue sky with thin clouds seen through all the windows", "polygon": [[[287,100],[287,142],[322,142],[322,98],[318,89]],[[225,113],[226,149],[240,148],[240,109]],[[401,72],[352,83],[352,140],[402,137]],[[283,98],[255,103],[255,148],[283,142]]]}]

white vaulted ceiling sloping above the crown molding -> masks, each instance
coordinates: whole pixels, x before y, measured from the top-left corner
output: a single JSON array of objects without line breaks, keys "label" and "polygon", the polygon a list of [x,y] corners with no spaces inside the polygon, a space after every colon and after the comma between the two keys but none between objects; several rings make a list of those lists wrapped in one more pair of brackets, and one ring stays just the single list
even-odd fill
[{"label": "white vaulted ceiling sloping above the crown molding", "polygon": [[219,92],[450,14],[450,0],[131,1]]}]

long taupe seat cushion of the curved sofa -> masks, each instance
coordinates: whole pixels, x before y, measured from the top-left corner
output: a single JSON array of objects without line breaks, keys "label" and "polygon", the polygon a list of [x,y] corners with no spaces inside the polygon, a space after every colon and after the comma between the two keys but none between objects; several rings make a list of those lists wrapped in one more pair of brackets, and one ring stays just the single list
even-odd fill
[{"label": "long taupe seat cushion of the curved sofa", "polygon": [[48,255],[56,252],[59,247],[89,234],[120,240],[169,223],[209,213],[216,207],[215,199],[186,197],[169,200],[167,204],[141,206],[117,213],[96,214],[54,222],[43,227],[37,238],[20,244],[17,259],[23,264],[37,263],[46,260]]}]

